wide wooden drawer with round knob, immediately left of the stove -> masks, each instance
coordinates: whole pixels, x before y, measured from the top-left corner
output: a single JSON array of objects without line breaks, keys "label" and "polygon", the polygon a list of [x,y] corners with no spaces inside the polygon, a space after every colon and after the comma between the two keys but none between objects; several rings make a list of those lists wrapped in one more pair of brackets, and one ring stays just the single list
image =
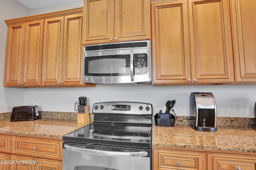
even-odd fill
[{"label": "wide wooden drawer with round knob, immediately left of the stove", "polygon": [[12,137],[12,153],[62,160],[62,141],[34,137]]}]

